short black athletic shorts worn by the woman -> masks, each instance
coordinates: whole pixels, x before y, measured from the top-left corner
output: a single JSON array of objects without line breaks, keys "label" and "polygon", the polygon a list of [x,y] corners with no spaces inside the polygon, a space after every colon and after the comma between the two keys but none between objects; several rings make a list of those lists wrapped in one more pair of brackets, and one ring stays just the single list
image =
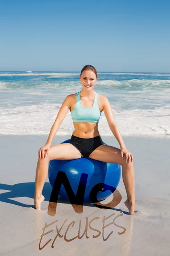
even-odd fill
[{"label": "short black athletic shorts worn by the woman", "polygon": [[96,148],[104,144],[100,135],[90,139],[83,139],[72,135],[69,143],[74,145],[83,157],[89,157]]}]

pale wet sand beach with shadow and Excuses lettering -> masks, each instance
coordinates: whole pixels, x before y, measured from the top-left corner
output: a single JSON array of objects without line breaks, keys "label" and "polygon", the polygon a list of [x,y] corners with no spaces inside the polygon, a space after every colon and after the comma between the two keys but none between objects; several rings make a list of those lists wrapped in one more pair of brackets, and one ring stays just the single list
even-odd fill
[{"label": "pale wet sand beach with shadow and Excuses lettering", "polygon": [[[56,135],[52,145],[69,138],[70,135]],[[45,196],[42,210],[35,210],[37,152],[46,140],[47,135],[0,136],[0,255],[170,254],[168,138],[123,137],[134,157],[134,215],[128,214],[124,204],[127,198],[122,176],[117,187],[122,200],[113,209],[100,209],[84,203],[80,214],[74,211],[69,201],[59,197],[56,215],[50,216],[48,203],[52,187],[47,178],[42,192]],[[119,148],[113,136],[102,136],[102,140]],[[68,230],[70,223],[72,226]]]}]

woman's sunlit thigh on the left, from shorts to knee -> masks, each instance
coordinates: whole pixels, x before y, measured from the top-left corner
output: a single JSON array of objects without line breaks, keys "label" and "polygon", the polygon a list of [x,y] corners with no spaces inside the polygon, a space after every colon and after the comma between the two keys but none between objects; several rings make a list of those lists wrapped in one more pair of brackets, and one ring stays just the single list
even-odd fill
[{"label": "woman's sunlit thigh on the left, from shorts to knee", "polygon": [[57,144],[50,147],[49,160],[72,160],[81,158],[82,154],[70,143]]}]

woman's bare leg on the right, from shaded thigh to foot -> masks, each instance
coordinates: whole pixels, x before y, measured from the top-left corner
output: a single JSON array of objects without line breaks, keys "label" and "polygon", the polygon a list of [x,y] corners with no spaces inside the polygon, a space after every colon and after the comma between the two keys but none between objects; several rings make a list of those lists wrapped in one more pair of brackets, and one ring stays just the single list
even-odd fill
[{"label": "woman's bare leg on the right, from shaded thigh to foot", "polygon": [[122,159],[120,149],[109,145],[100,145],[90,154],[89,158],[106,163],[118,163],[122,166],[122,178],[127,193],[125,205],[129,209],[129,214],[133,214],[135,209],[135,178],[133,162],[126,163],[125,157]]}]

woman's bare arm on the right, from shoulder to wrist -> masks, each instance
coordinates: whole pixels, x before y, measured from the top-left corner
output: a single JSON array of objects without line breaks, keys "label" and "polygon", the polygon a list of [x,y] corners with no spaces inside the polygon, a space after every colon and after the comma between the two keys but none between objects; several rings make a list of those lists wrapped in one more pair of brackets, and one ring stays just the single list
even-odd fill
[{"label": "woman's bare arm on the right, from shoulder to wrist", "polygon": [[120,131],[116,125],[113,111],[110,105],[110,102],[108,101],[108,98],[103,96],[103,111],[105,113],[106,119],[108,121],[108,125],[116,138],[116,140],[119,142],[120,148],[126,148],[125,143],[123,142],[122,136],[120,134]]}]

